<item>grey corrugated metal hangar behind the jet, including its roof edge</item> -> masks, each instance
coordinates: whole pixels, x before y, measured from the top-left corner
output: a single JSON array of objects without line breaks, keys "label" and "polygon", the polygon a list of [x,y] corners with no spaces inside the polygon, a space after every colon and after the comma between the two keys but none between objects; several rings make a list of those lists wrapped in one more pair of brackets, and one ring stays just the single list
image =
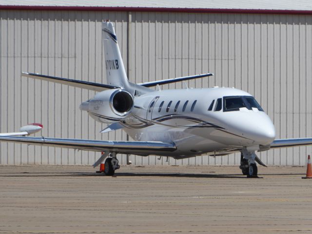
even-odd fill
[{"label": "grey corrugated metal hangar behind the jet, including its roof edge", "polygon": [[[78,106],[92,91],[21,78],[33,72],[106,83],[101,22],[115,23],[132,82],[206,72],[189,87],[229,86],[255,96],[272,118],[276,138],[312,137],[312,4],[240,0],[0,0],[0,132],[30,122],[42,136],[126,140]],[[181,83],[163,89],[181,88]],[[36,134],[37,137],[41,134]],[[94,152],[0,144],[0,164],[93,164]],[[304,165],[312,147],[259,153],[269,165]],[[125,156],[118,156],[122,164]],[[175,160],[130,156],[136,165],[239,164],[239,155]]]}]

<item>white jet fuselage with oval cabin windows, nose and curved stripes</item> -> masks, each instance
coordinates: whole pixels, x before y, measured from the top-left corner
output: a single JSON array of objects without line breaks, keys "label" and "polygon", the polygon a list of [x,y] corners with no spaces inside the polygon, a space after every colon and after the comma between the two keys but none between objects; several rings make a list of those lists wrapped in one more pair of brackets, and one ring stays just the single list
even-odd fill
[{"label": "white jet fuselage with oval cabin windows, nose and curved stripes", "polygon": [[[88,113],[103,122],[99,111]],[[120,123],[135,140],[174,142],[177,150],[166,155],[176,158],[268,145],[275,138],[271,119],[254,97],[234,88],[149,92],[135,97],[131,114]]]}]

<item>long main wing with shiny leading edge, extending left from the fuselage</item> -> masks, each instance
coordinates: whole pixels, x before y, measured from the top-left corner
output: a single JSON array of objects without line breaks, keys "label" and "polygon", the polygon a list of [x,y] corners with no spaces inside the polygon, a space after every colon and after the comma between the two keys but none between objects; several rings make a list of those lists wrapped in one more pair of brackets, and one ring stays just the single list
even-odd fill
[{"label": "long main wing with shiny leading edge, extending left from the fuselage", "polygon": [[54,146],[88,151],[110,151],[119,154],[150,155],[159,152],[172,152],[176,150],[174,143],[160,141],[102,141],[65,138],[44,137],[11,137],[1,136],[0,141],[16,142],[31,145]]}]

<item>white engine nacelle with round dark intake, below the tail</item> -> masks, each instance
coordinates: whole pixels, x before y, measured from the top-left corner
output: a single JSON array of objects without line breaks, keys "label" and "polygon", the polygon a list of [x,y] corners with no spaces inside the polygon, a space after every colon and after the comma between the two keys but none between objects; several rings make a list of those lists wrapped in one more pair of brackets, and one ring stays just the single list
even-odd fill
[{"label": "white engine nacelle with round dark intake, below the tail", "polygon": [[87,111],[95,120],[103,123],[120,121],[133,109],[134,98],[124,89],[105,90],[88,101],[82,102],[80,110]]}]

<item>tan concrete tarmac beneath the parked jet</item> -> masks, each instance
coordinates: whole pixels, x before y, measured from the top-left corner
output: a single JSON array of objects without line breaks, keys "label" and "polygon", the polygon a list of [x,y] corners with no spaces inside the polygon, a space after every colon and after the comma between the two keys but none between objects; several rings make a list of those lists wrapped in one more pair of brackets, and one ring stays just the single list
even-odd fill
[{"label": "tan concrete tarmac beneath the parked jet", "polygon": [[0,166],[0,233],[312,233],[305,167]]}]

